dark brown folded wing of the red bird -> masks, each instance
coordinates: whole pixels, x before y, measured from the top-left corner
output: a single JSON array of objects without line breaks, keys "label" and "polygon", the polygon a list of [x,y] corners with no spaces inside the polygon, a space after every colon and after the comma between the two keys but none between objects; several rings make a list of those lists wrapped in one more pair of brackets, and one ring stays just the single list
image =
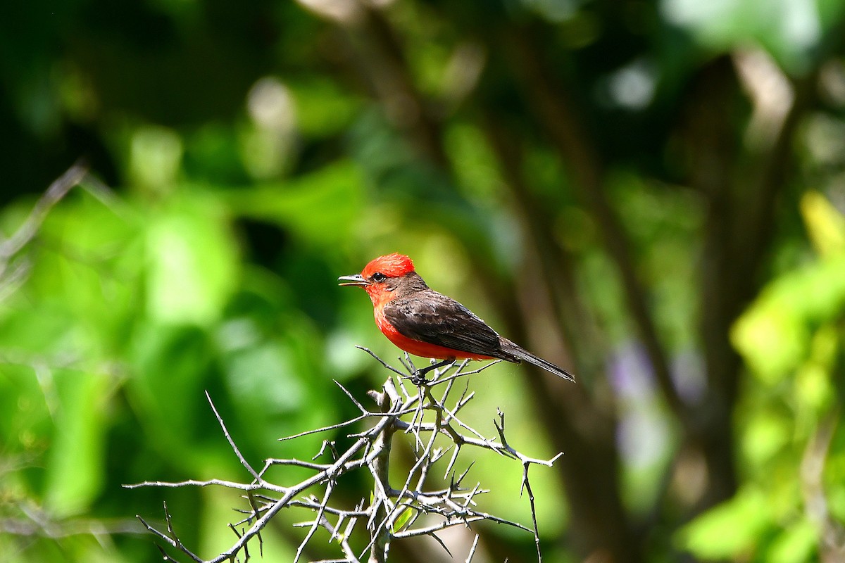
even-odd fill
[{"label": "dark brown folded wing of the red bird", "polygon": [[384,306],[384,318],[407,338],[470,354],[505,358],[499,334],[472,311],[434,290],[398,297]]}]

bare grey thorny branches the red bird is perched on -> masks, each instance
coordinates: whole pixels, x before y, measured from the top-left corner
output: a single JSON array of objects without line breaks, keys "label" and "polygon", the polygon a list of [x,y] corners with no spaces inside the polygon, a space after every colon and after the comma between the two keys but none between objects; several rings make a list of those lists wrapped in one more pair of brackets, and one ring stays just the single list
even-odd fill
[{"label": "bare grey thorny branches the red bird is perched on", "polygon": [[[245,483],[222,479],[202,481],[191,479],[176,483],[145,481],[135,485],[125,485],[128,489],[144,486],[219,486],[243,491],[246,506],[237,510],[243,515],[241,520],[229,525],[235,534],[235,541],[229,549],[208,560],[194,554],[179,539],[166,504],[163,527],[155,527],[139,516],[140,522],[150,533],[155,534],[172,549],[181,552],[196,563],[248,561],[251,555],[248,549],[250,542],[257,540],[259,551],[263,550],[261,533],[268,522],[283,508],[299,508],[313,513],[312,519],[295,524],[297,527],[307,528],[307,532],[299,544],[294,561],[301,559],[303,551],[313,540],[319,528],[323,528],[330,534],[329,543],[338,544],[341,552],[341,559],[330,561],[360,563],[367,560],[368,563],[381,563],[388,559],[390,544],[396,539],[429,536],[445,549],[442,540],[436,535],[437,532],[459,525],[470,527],[472,522],[482,521],[505,524],[532,533],[537,544],[537,560],[542,561],[534,495],[528,480],[528,468],[532,464],[551,467],[562,454],[559,453],[551,459],[543,460],[528,457],[515,450],[505,439],[504,413],[501,410],[499,410],[498,420],[494,420],[497,436],[492,438],[483,436],[481,432],[458,418],[461,409],[472,400],[474,393],[467,392],[465,385],[460,395],[455,393],[453,396],[453,392],[461,387],[456,383],[461,380],[461,377],[477,374],[492,364],[483,365],[478,369],[467,369],[466,361],[460,365],[445,365],[432,371],[433,376],[430,379],[419,382],[413,377],[417,369],[407,355],[404,359],[400,359],[406,370],[401,371],[381,360],[370,350],[362,349],[384,365],[385,369],[392,372],[380,392],[368,393],[378,409],[365,408],[352,396],[352,393],[337,383],[341,391],[360,411],[359,415],[339,424],[281,438],[281,441],[293,440],[318,432],[341,430],[365,420],[373,422],[374,424],[368,430],[347,435],[355,441],[345,451],[338,451],[335,442],[327,439],[323,441],[323,447],[311,461],[269,458],[264,461],[264,466],[260,470],[256,470],[238,450],[235,441],[226,430],[221,415],[206,394],[229,446],[253,479]],[[404,482],[398,487],[392,485],[389,478],[390,448],[395,436],[409,436],[415,457],[415,463],[408,470]],[[441,443],[445,443],[447,447],[440,446]],[[466,484],[472,463],[460,473],[455,470],[458,456],[465,447],[496,452],[522,464],[521,491],[527,491],[531,503],[532,528],[504,517],[482,512],[477,508],[477,495],[488,490],[483,489],[480,483]],[[449,452],[450,455],[447,456]],[[327,457],[330,461],[318,462],[320,457]],[[435,473],[433,465],[441,460],[446,460],[445,468]],[[274,466],[306,468],[313,474],[292,485],[278,485],[265,478],[267,470]],[[370,500],[361,500],[352,507],[338,506],[340,503],[335,501],[334,496],[338,480],[341,476],[357,469],[366,469],[372,477],[373,489]],[[443,471],[445,486],[441,485],[440,488],[434,489],[429,485],[430,476],[439,475],[440,471]],[[313,489],[316,490],[312,491]],[[467,562],[472,560],[476,552],[477,541],[476,536],[472,549],[466,555]],[[161,546],[159,549],[164,560],[177,563],[173,555],[169,555]]]}]

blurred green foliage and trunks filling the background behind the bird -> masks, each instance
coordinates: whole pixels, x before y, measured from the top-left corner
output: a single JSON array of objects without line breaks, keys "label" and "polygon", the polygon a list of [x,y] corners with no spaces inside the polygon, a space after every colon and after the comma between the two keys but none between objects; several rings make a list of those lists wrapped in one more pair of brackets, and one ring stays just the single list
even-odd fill
[{"label": "blurred green foliage and trunks filling the background behind the bird", "polygon": [[[534,472],[550,560],[845,557],[842,0],[7,16],[0,231],[79,157],[112,189],[0,257],[0,560],[154,560],[134,515],[164,500],[224,549],[237,495],[121,485],[245,479],[204,391],[248,459],[311,457],[275,439],[357,412],[332,380],[363,398],[385,373],[355,344],[395,357],[335,282],[386,252],[578,375],[472,382],[479,426],[498,406],[521,451],[566,454]],[[525,521],[504,465],[474,471]],[[527,534],[482,538],[532,560]]]}]

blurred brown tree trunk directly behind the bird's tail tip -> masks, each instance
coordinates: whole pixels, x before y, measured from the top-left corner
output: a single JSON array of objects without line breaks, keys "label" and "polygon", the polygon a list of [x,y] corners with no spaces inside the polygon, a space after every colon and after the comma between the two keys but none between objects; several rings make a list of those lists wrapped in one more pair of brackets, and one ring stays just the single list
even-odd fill
[{"label": "blurred brown tree trunk directly behind the bird's tail tip", "polygon": [[[581,382],[549,379],[532,370],[529,389],[537,404],[543,426],[556,450],[565,452],[555,467],[570,507],[569,544],[585,557],[635,562],[641,560],[638,542],[626,515],[619,490],[619,452],[616,449],[617,421],[612,407],[600,406],[585,382],[602,385],[606,365],[591,360],[598,343],[592,342],[592,320],[581,302],[573,279],[573,261],[555,242],[552,222],[532,197],[522,171],[518,139],[498,117],[488,111],[485,120],[490,144],[499,158],[515,213],[526,233],[523,282],[513,293],[497,302],[507,329],[521,342],[532,341],[532,323],[559,328],[570,355],[561,350],[542,350],[542,355],[563,365],[581,366]],[[523,315],[508,303],[521,302]],[[530,304],[535,302],[534,306]],[[528,303],[529,306],[525,306]],[[534,349],[539,349],[537,346]],[[598,383],[596,383],[598,382]]]}]

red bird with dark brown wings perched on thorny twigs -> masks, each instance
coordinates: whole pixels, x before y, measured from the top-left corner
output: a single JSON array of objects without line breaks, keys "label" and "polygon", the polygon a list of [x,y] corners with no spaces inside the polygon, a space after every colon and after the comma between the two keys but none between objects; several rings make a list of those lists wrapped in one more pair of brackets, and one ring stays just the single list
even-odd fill
[{"label": "red bird with dark brown wings perched on thorny twigs", "polygon": [[341,285],[360,285],[373,301],[375,323],[390,342],[406,352],[445,360],[425,372],[457,359],[523,361],[554,375],[575,378],[568,371],[543,360],[502,338],[472,311],[428,288],[414,271],[411,258],[388,254],[368,263],[361,273],[341,276]]}]

